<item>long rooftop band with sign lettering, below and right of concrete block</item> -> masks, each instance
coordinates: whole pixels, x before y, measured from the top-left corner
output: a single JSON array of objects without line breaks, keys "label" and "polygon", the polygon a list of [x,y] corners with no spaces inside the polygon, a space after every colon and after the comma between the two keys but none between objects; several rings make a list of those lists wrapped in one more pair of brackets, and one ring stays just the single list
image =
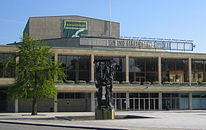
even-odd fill
[{"label": "long rooftop band with sign lettering, below and right of concrete block", "polygon": [[80,45],[112,48],[139,48],[192,51],[192,41],[186,40],[132,40],[132,39],[89,39],[81,38]]}]

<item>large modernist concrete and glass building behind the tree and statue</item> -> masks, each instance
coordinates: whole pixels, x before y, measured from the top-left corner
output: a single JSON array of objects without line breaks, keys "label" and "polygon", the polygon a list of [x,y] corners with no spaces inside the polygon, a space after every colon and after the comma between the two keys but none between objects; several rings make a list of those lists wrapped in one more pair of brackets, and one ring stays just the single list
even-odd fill
[{"label": "large modernist concrete and glass building behind the tree and statue", "polygon": [[[29,18],[24,33],[52,46],[54,60],[68,75],[57,83],[54,99],[38,102],[39,111],[94,111],[96,59],[113,59],[118,70],[113,97],[116,110],[206,109],[206,54],[173,52],[184,40],[120,38],[120,24],[81,16]],[[174,43],[174,44],[173,44]],[[1,45],[0,59],[12,57],[15,45]],[[0,61],[0,111],[30,111],[31,102],[8,100],[14,68]]]}]

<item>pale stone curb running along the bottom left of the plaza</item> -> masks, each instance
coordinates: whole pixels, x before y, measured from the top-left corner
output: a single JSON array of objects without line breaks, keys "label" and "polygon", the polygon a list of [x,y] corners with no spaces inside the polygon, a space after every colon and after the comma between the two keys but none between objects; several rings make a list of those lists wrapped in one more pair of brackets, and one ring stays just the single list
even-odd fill
[{"label": "pale stone curb running along the bottom left of the plaza", "polygon": [[18,121],[9,121],[9,120],[0,120],[0,123],[7,124],[19,124],[19,125],[34,125],[34,126],[50,126],[50,127],[62,127],[62,128],[76,128],[76,129],[98,129],[98,130],[126,130],[123,128],[115,127],[96,127],[96,126],[80,126],[80,125],[63,125],[63,124],[43,124],[43,123],[31,123],[31,122],[18,122]]}]

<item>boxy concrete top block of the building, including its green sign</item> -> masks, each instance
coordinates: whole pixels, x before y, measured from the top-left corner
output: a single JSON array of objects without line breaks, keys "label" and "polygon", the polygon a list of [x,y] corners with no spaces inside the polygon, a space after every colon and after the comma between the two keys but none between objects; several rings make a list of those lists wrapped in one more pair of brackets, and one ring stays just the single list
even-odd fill
[{"label": "boxy concrete top block of the building, including its green sign", "polygon": [[29,18],[24,33],[34,40],[75,36],[120,37],[120,24],[82,16]]}]

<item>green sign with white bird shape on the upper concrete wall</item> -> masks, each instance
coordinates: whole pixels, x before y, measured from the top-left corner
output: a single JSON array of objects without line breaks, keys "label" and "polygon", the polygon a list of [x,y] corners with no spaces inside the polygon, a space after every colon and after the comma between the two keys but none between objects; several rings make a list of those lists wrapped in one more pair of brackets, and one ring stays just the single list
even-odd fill
[{"label": "green sign with white bird shape on the upper concrete wall", "polygon": [[87,33],[87,21],[64,20],[64,37],[79,37]]}]

